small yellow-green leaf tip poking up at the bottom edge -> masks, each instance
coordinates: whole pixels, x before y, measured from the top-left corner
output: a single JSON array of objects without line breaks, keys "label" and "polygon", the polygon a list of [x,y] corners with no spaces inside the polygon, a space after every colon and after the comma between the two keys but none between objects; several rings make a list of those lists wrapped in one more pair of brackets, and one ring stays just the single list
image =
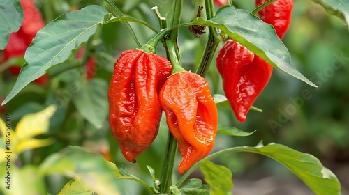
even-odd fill
[{"label": "small yellow-green leaf tip poking up at the bottom edge", "polygon": [[59,192],[59,195],[91,195],[95,192],[87,185],[84,184],[79,178],[73,178],[73,180],[70,180],[69,182],[64,185],[61,192]]}]

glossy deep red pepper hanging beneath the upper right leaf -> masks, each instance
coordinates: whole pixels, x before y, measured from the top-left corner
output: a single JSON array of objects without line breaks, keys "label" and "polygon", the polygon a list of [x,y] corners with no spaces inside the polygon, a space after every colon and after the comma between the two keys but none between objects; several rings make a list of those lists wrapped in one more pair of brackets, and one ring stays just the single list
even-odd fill
[{"label": "glossy deep red pepper hanging beneath the upper right leaf", "polygon": [[244,122],[253,102],[267,86],[273,68],[235,40],[225,42],[216,65],[230,107],[237,119]]}]

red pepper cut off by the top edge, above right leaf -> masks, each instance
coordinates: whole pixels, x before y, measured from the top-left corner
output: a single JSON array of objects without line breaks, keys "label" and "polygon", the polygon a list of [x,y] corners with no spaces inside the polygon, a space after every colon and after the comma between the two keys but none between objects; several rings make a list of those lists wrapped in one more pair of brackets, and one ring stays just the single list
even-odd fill
[{"label": "red pepper cut off by the top edge, above right leaf", "polygon": [[[258,7],[268,0],[256,0],[255,6]],[[260,20],[272,24],[276,34],[283,39],[291,23],[293,0],[278,0],[269,6],[263,8],[258,13]]]}]

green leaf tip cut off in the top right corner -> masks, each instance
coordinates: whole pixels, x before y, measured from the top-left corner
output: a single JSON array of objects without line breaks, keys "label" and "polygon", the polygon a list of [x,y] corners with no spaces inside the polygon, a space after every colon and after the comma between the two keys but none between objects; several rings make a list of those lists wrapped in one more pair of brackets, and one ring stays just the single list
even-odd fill
[{"label": "green leaf tip cut off in the top right corner", "polygon": [[327,13],[339,17],[343,22],[349,25],[349,1],[344,0],[313,0],[325,8]]}]

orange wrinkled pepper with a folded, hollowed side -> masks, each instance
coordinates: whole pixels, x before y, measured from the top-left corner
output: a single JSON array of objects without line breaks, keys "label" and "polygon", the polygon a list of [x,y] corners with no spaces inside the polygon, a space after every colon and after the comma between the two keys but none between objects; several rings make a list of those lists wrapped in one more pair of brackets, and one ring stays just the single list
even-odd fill
[{"label": "orange wrinkled pepper with a folded, hollowed side", "polygon": [[206,157],[214,146],[218,112],[207,81],[192,72],[172,75],[159,94],[160,104],[181,151],[179,173]]}]

